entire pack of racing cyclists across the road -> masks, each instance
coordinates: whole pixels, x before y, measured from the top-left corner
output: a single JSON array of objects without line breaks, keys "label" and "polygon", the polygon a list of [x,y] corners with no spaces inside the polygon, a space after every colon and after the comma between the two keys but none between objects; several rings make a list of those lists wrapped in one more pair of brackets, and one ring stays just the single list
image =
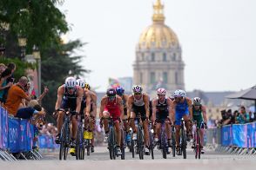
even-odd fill
[{"label": "entire pack of racing cyclists across the road", "polygon": [[[95,125],[95,117],[97,114],[97,95],[90,90],[89,84],[83,79],[76,80],[74,77],[68,77],[64,85],[57,89],[57,138],[56,143],[59,143],[60,131],[63,124],[64,110],[70,108],[71,116],[71,150],[70,153],[75,155],[76,137],[77,137],[77,115],[84,115],[84,133],[91,133]],[[129,133],[132,129],[132,140],[137,140],[137,127],[135,118],[140,117],[144,130],[145,154],[150,154],[150,139],[149,139],[149,122],[154,125],[154,144],[158,144],[159,132],[161,125],[165,123],[165,132],[167,136],[168,146],[171,147],[171,126],[175,126],[175,141],[177,154],[180,153],[180,126],[181,120],[185,121],[187,141],[192,139],[192,121],[197,122],[200,129],[201,140],[204,135],[204,126],[206,126],[207,118],[205,106],[201,104],[199,97],[193,100],[186,97],[184,90],[178,89],[170,97],[166,96],[165,88],[158,88],[157,97],[152,101],[143,88],[139,85],[132,87],[132,94],[126,95],[125,89],[122,87],[108,88],[106,94],[100,101],[99,118],[103,124],[105,138],[108,141],[109,125],[108,119],[111,117],[114,121],[114,129],[116,131],[116,154],[121,155],[121,128]],[[93,140],[92,151],[93,149]],[[203,143],[203,140],[201,141]],[[201,153],[204,154],[204,149],[201,148]]]}]

